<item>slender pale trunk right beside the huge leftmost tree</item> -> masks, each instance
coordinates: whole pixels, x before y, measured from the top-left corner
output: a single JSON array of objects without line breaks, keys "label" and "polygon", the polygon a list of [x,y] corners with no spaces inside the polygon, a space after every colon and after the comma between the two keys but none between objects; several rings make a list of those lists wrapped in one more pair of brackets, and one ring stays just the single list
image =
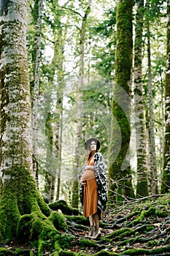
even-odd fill
[{"label": "slender pale trunk right beside the huge leftmost tree", "polygon": [[36,37],[36,68],[35,83],[33,95],[32,109],[32,130],[33,130],[33,173],[36,178],[36,186],[38,187],[38,159],[37,159],[37,143],[38,143],[38,102],[39,102],[39,71],[41,61],[41,41],[42,41],[42,0],[39,0],[39,18],[37,20],[37,37]]}]

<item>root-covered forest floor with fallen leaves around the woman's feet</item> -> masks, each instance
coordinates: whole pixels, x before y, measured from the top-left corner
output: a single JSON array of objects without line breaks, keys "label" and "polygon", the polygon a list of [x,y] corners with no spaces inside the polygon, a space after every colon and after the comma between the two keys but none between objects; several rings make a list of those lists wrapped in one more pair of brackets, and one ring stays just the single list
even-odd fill
[{"label": "root-covered forest floor with fallen leaves around the woman's feet", "polygon": [[[96,241],[85,238],[87,218],[66,216],[66,222],[69,230],[62,233],[63,252],[59,255],[170,255],[169,195],[129,200],[121,206],[114,204],[112,210],[103,214],[101,237]],[[17,246],[25,252],[31,249],[37,255],[36,249],[28,244],[11,243],[5,248],[12,252]]]}]

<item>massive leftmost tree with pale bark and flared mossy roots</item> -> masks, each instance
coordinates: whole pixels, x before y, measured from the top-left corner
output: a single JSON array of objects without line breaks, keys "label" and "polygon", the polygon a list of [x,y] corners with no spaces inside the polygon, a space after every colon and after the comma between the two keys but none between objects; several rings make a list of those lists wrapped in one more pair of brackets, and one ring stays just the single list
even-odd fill
[{"label": "massive leftmost tree with pale bark and flared mossy roots", "polygon": [[0,241],[32,238],[42,255],[45,239],[59,249],[58,231],[32,173],[26,10],[26,0],[1,1]]}]

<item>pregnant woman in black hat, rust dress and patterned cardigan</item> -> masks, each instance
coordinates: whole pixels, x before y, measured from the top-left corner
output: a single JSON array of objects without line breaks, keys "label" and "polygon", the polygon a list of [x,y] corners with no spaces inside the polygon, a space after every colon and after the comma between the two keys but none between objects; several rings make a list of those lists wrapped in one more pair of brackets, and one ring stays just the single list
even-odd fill
[{"label": "pregnant woman in black hat, rust dress and patterned cardigan", "polygon": [[104,159],[98,149],[100,142],[90,138],[85,143],[85,165],[80,176],[80,200],[83,215],[89,218],[90,228],[88,238],[101,236],[99,221],[107,203],[107,181],[104,169]]}]

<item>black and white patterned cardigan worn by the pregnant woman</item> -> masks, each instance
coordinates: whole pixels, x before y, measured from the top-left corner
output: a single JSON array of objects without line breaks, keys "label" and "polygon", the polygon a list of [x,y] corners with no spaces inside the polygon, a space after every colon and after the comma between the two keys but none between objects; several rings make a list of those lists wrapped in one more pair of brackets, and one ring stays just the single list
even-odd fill
[{"label": "black and white patterned cardigan worn by the pregnant woman", "polygon": [[[88,160],[85,161],[85,163]],[[82,173],[85,170],[85,165],[82,167]],[[107,178],[106,178],[106,171],[104,167],[104,159],[100,152],[96,152],[94,154],[94,170],[96,173],[96,182],[97,182],[97,189],[98,189],[98,209],[104,211],[107,205]],[[81,178],[82,174],[80,175]],[[80,185],[80,202],[83,206],[83,192],[84,187]]]}]

